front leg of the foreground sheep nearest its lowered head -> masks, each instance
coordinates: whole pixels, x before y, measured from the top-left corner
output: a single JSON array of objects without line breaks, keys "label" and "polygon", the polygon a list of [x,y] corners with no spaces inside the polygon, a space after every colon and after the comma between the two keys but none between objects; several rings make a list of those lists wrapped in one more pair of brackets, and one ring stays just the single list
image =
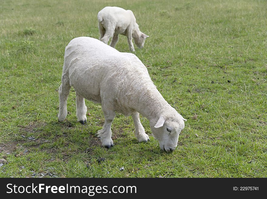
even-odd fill
[{"label": "front leg of the foreground sheep nearest its lowered head", "polygon": [[135,136],[138,142],[147,142],[149,141],[148,135],[145,133],[145,129],[140,122],[140,116],[138,112],[132,114],[135,126]]}]

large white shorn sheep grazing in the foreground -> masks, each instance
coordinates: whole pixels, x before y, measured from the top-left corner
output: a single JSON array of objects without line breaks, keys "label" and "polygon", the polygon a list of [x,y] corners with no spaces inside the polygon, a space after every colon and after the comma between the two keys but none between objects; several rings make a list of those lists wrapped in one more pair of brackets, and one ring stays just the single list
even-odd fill
[{"label": "large white shorn sheep grazing in the foreground", "polygon": [[132,116],[139,142],[149,140],[140,113],[149,120],[161,150],[172,151],[177,147],[186,120],[164,100],[147,68],[134,54],[119,52],[98,39],[74,38],[65,49],[61,81],[58,120],[63,121],[67,116],[67,97],[73,86],[80,123],[87,120],[84,98],[101,103],[105,122],[98,135],[104,147],[113,146],[111,124],[115,111]]}]

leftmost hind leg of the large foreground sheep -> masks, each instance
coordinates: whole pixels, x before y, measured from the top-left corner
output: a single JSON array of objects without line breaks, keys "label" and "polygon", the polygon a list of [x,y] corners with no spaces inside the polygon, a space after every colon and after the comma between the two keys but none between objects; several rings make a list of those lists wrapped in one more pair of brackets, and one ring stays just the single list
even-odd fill
[{"label": "leftmost hind leg of the large foreground sheep", "polygon": [[65,76],[62,76],[62,83],[59,86],[59,114],[58,114],[58,120],[63,121],[65,120],[68,111],[67,111],[67,99],[69,96],[69,79]]}]

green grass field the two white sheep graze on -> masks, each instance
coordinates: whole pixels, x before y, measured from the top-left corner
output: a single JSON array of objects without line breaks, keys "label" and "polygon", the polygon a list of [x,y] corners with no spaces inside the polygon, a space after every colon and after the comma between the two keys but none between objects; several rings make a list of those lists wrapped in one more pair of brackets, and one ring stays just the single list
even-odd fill
[{"label": "green grass field the two white sheep graze on", "polygon": [[[75,37],[99,38],[105,6],[132,10],[150,35],[135,54],[187,119],[173,153],[160,150],[144,117],[150,142],[138,143],[132,118],[119,113],[105,149],[101,105],[86,100],[81,125],[73,88],[58,122],[64,49]],[[266,8],[264,0],[2,0],[0,177],[266,177]],[[119,37],[117,50],[129,52]]]}]

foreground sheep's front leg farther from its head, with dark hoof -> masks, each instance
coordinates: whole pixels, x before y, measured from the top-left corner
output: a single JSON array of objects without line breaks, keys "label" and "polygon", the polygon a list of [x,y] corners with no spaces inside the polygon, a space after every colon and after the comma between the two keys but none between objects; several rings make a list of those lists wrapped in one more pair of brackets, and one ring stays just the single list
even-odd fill
[{"label": "foreground sheep's front leg farther from its head, with dark hoof", "polygon": [[116,116],[116,113],[114,110],[103,108],[103,105],[102,109],[105,116],[105,123],[103,125],[103,129],[98,131],[98,135],[101,138],[102,145],[106,148],[110,148],[113,146],[113,140],[111,139],[111,124]]}]

